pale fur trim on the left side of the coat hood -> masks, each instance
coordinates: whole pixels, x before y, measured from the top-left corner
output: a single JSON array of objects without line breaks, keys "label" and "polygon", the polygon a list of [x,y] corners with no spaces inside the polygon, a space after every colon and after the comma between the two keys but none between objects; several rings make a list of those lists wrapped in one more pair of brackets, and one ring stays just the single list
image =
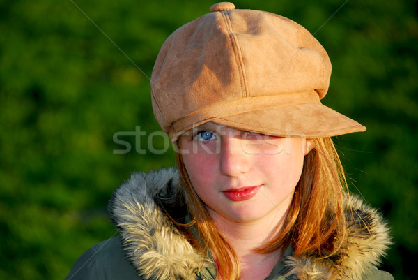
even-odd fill
[{"label": "pale fur trim on the left side of the coat hood", "polygon": [[177,182],[178,172],[172,169],[134,173],[109,203],[127,258],[145,279],[196,279],[204,262],[155,204],[173,196]]}]

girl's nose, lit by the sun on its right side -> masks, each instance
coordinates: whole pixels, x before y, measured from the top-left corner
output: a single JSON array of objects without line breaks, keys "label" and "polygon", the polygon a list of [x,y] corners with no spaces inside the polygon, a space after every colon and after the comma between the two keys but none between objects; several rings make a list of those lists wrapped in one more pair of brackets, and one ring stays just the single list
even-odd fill
[{"label": "girl's nose, lit by the sun on its right side", "polygon": [[222,175],[238,177],[251,168],[250,155],[243,149],[242,139],[225,137],[221,141],[220,168]]}]

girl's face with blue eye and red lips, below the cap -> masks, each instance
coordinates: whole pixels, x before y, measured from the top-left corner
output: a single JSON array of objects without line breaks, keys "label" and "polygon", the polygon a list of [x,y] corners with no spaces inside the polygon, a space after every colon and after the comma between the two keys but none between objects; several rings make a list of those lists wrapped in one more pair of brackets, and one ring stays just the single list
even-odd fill
[{"label": "girl's face with blue eye and red lips, below the cap", "polygon": [[281,219],[300,179],[309,141],[207,123],[181,136],[192,186],[212,219]]}]

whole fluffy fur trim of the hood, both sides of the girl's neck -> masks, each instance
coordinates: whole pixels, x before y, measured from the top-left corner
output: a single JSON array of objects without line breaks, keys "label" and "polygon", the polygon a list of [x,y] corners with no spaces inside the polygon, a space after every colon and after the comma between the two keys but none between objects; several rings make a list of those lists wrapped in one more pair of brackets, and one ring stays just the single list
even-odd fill
[{"label": "whole fluffy fur trim of the hood, both sides of the girl's neck", "polygon": [[[196,273],[213,266],[176,230],[159,206],[173,200],[178,179],[174,169],[134,173],[109,202],[110,217],[127,258],[144,279],[196,279]],[[350,219],[341,249],[331,258],[307,254],[287,258],[287,277],[362,279],[375,269],[390,244],[389,230],[380,214],[357,197],[347,200],[346,211]]]}]

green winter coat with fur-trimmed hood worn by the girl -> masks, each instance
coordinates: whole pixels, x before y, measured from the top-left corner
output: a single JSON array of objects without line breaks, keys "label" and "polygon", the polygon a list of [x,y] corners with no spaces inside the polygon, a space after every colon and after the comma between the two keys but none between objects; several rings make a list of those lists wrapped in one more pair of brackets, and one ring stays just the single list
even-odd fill
[{"label": "green winter coat with fur-trimmed hood worn by the girl", "polygon": [[[158,206],[171,203],[177,182],[175,170],[132,175],[109,203],[120,236],[88,249],[65,280],[215,279],[212,258],[199,255]],[[350,215],[346,240],[332,258],[295,258],[289,246],[266,279],[323,280],[331,274],[339,280],[393,279],[376,268],[389,244],[380,215],[357,198],[348,200],[346,209],[357,215]]]}]

